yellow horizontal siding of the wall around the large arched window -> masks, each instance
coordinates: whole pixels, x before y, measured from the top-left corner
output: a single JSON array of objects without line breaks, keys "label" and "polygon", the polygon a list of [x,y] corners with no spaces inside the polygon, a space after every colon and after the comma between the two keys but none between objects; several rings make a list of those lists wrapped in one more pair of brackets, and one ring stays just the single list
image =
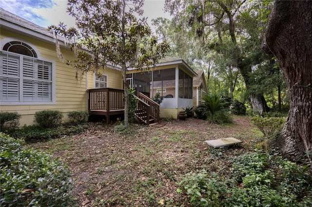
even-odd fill
[{"label": "yellow horizontal siding of the wall around the large arched window", "polygon": [[[36,47],[40,54],[39,59],[49,59],[55,61],[55,83],[56,83],[56,103],[47,105],[1,105],[1,111],[18,112],[22,115],[20,124],[30,125],[34,124],[34,114],[40,110],[60,110],[64,112],[64,121],[67,121],[66,112],[87,110],[87,96],[86,96],[86,75],[78,75],[76,77],[76,69],[71,66],[61,63],[56,53],[56,46],[51,43],[42,42],[32,39],[27,36],[12,33],[10,31],[1,29],[1,39],[10,37],[21,40],[26,44]],[[67,49],[61,49],[65,59],[74,60],[73,52]],[[113,77],[113,75],[111,75]],[[90,81],[89,81],[90,84]]]}]

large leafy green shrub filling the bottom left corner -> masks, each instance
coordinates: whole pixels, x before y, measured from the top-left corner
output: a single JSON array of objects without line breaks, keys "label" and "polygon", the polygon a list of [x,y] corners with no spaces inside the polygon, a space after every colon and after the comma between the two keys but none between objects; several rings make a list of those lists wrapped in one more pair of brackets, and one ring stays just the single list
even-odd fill
[{"label": "large leafy green shrub filling the bottom left corner", "polygon": [[0,206],[59,207],[73,204],[69,171],[63,163],[23,141],[0,133]]}]

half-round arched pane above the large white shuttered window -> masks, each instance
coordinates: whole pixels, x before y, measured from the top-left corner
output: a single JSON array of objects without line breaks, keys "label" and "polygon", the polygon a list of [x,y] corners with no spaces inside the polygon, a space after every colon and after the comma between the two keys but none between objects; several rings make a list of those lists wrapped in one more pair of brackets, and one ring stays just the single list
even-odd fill
[{"label": "half-round arched pane above the large white shuttered window", "polygon": [[19,53],[30,57],[38,57],[34,49],[26,43],[20,41],[11,41],[3,46],[4,51]]}]

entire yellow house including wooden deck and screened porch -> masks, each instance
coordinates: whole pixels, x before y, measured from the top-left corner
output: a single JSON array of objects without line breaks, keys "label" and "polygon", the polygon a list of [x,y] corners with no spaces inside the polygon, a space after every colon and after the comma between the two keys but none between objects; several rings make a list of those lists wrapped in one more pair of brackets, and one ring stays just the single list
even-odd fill
[{"label": "entire yellow house including wooden deck and screened porch", "polygon": [[[105,115],[107,122],[109,115],[123,113],[119,67],[105,67],[99,71],[101,77],[93,73],[77,76],[76,69],[59,60],[55,38],[45,28],[2,8],[0,18],[1,111],[18,112],[22,115],[21,125],[33,124],[35,113],[46,109],[62,111],[65,121],[66,113],[78,110]],[[65,42],[59,40],[61,52],[65,59],[74,60]],[[145,116],[155,116],[157,120],[159,111],[160,117],[176,119],[182,108],[193,105],[195,76],[195,71],[182,59],[171,57],[145,72],[137,69],[127,72],[129,86],[135,87],[140,99],[138,109],[144,108]],[[166,92],[169,82],[174,83],[174,88]],[[160,106],[150,99],[156,92],[164,96]],[[152,105],[154,109],[146,112]]]}]

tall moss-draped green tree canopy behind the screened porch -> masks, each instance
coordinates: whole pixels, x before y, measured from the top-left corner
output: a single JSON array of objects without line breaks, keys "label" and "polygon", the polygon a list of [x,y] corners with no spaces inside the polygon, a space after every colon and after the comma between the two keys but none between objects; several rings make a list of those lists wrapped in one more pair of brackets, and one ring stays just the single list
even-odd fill
[{"label": "tall moss-draped green tree canopy behind the screened porch", "polygon": [[[230,96],[233,96],[235,85],[241,76],[250,104],[260,114],[269,109],[264,93],[270,95],[270,92],[256,84],[256,78],[259,78],[256,74],[261,68],[274,67],[271,61],[273,56],[266,55],[260,48],[272,5],[271,0],[166,0],[165,6],[166,11],[173,16],[170,24],[179,28],[181,34],[178,35],[185,37],[168,39],[176,40],[175,46],[182,44],[178,42],[185,41],[183,45],[187,45],[189,54],[193,54],[191,61],[206,62],[201,65],[208,66],[209,75],[212,66],[218,79],[224,77],[223,82],[229,88]],[[166,28],[163,26],[164,21],[161,23],[161,28]],[[163,30],[162,34],[171,35]],[[265,74],[270,77],[270,72]],[[271,88],[282,86],[276,84],[274,79],[267,80],[270,81]]]}]

